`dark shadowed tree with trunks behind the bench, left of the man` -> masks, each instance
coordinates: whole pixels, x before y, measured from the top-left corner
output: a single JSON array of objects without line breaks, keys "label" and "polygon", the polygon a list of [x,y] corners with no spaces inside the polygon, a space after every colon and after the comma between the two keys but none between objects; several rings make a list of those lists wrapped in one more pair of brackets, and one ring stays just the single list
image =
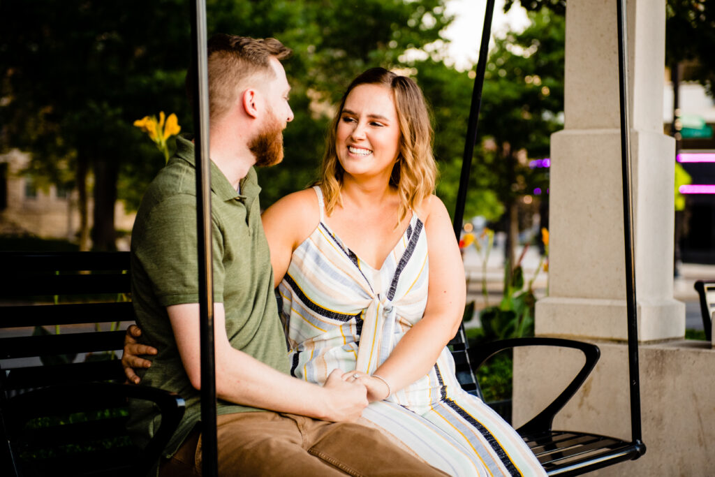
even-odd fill
[{"label": "dark shadowed tree with trunks behind the bench, left of the man", "polygon": [[94,171],[97,249],[114,248],[119,174],[146,158],[133,120],[146,115],[147,107],[176,107],[188,44],[183,4],[74,0],[0,6],[3,145],[33,152],[31,169],[53,180],[74,171],[83,239],[87,174]]}]

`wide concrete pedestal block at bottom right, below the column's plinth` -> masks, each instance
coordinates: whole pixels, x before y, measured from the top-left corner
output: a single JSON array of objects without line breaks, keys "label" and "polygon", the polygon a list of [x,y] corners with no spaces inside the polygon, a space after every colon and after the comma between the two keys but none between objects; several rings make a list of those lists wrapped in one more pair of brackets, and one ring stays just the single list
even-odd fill
[{"label": "wide concrete pedestal block at bottom right, below the column's plinth", "polygon": [[[553,428],[631,440],[628,347],[596,342],[601,360],[556,415]],[[546,407],[578,372],[578,350],[515,348],[513,424]],[[705,341],[641,345],[641,414],[646,454],[589,476],[715,475],[715,349]]]}]

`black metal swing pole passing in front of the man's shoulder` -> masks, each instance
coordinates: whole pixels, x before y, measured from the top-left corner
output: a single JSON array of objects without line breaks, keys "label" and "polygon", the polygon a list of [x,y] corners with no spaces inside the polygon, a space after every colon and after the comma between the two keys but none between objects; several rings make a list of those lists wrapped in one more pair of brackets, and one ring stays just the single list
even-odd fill
[{"label": "black metal swing pole passing in front of the man's shoulder", "polygon": [[216,365],[211,237],[211,162],[209,159],[209,81],[206,4],[192,0],[192,58],[194,75],[194,144],[196,151],[196,219],[201,323],[202,475],[218,476],[216,438]]}]

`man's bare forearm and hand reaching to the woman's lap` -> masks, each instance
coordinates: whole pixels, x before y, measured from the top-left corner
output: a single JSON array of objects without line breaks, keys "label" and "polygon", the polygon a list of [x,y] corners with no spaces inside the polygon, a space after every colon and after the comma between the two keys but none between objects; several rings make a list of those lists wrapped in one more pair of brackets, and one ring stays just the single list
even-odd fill
[{"label": "man's bare forearm and hand reaching to the woman's lap", "polygon": [[[201,388],[199,305],[167,307],[184,369],[194,388]],[[325,386],[280,373],[231,346],[222,303],[214,305],[216,393],[232,403],[278,412],[307,415],[325,421],[354,421],[368,405],[365,386],[342,380],[335,370]]]}]

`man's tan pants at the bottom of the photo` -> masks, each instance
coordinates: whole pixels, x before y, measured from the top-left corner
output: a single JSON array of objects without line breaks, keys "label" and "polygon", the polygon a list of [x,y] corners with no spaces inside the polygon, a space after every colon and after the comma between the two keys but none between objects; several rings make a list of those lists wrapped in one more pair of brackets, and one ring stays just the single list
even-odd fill
[{"label": "man's tan pants at the bottom of the photo", "polygon": [[[217,418],[220,476],[445,476],[380,431],[302,415],[236,413]],[[201,436],[192,432],[163,461],[161,476],[201,475]]]}]

